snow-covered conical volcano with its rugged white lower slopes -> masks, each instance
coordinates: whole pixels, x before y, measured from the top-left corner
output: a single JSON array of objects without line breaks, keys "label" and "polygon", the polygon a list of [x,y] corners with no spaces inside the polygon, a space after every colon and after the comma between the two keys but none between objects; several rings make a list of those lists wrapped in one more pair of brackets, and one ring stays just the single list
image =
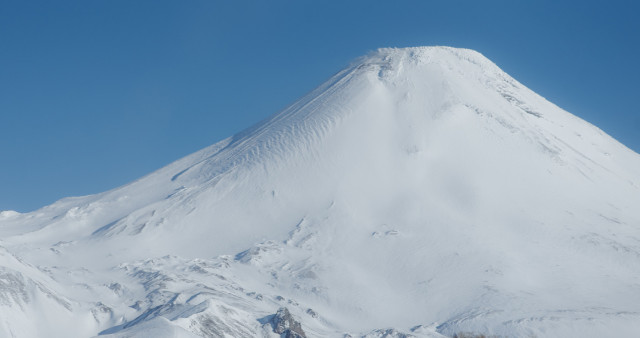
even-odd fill
[{"label": "snow-covered conical volcano with its rugged white lower slopes", "polygon": [[464,49],[379,50],[0,238],[2,337],[640,335],[640,156]]}]

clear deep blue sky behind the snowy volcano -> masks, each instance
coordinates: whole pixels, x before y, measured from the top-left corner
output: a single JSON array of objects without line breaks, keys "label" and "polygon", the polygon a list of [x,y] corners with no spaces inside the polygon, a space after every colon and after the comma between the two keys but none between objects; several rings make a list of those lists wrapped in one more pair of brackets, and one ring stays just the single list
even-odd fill
[{"label": "clear deep blue sky behind the snowy volcano", "polygon": [[640,152],[636,1],[0,2],[0,210],[125,184],[378,47],[480,51]]}]

